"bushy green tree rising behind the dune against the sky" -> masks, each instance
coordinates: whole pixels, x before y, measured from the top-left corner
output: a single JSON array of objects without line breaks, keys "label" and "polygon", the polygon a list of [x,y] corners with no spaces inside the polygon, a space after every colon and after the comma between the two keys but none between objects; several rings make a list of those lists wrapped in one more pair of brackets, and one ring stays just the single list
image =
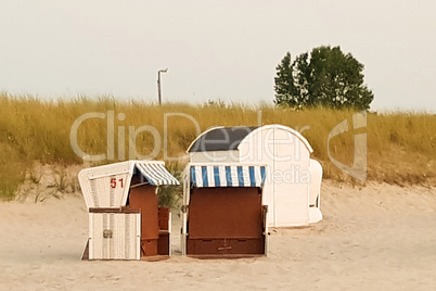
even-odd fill
[{"label": "bushy green tree rising behind the dune against the sky", "polygon": [[329,106],[334,109],[370,107],[374,99],[363,85],[363,64],[339,47],[319,47],[302,53],[291,64],[286,53],[275,67],[275,103],[295,109]]}]

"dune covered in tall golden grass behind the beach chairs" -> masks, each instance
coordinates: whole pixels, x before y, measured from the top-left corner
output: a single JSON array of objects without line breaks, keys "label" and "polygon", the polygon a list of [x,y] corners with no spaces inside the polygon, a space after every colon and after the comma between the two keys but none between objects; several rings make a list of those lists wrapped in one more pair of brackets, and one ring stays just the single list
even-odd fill
[{"label": "dune covered in tall golden grass behind the beach chairs", "polygon": [[[98,112],[104,118],[85,121],[77,130],[78,146],[89,154],[107,151],[106,128],[114,126],[114,157],[129,159],[129,151],[155,159],[181,157],[200,130],[211,126],[282,124],[300,130],[313,148],[324,177],[349,180],[329,159],[329,132],[348,119],[349,132],[331,139],[330,153],[344,164],[354,159],[354,134],[368,134],[368,178],[389,184],[433,184],[436,180],[436,115],[392,112],[368,114],[366,128],[352,129],[352,111],[325,109],[291,111],[272,105],[251,107],[221,103],[190,105],[120,102],[114,98],[77,98],[68,101],[41,101],[29,97],[0,93],[0,195],[13,198],[24,173],[35,162],[42,164],[81,164],[72,149],[69,135],[74,122],[82,114]],[[111,116],[114,116],[111,122]],[[172,114],[169,116],[168,114]],[[167,122],[167,135],[164,124]],[[142,129],[136,146],[129,142],[129,130]],[[155,128],[156,130],[152,129]],[[159,144],[161,143],[161,144]],[[167,148],[166,155],[164,144]],[[184,161],[185,162],[185,161]],[[170,162],[174,170],[183,161]]]}]

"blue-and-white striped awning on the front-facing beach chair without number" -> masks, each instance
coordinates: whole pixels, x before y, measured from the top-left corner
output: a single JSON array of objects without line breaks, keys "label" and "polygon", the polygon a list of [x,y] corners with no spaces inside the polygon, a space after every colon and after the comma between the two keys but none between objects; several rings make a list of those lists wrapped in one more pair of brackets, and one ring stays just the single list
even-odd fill
[{"label": "blue-and-white striped awning on the front-facing beach chair without number", "polygon": [[265,166],[208,165],[191,166],[193,187],[262,187]]}]

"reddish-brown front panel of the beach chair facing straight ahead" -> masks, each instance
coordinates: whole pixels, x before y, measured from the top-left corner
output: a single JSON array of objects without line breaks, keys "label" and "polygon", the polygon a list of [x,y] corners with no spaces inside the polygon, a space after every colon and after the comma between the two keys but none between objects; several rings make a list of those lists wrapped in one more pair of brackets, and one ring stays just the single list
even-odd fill
[{"label": "reddish-brown front panel of the beach chair facing straight ahead", "polygon": [[187,254],[264,254],[262,216],[258,188],[192,189]]}]

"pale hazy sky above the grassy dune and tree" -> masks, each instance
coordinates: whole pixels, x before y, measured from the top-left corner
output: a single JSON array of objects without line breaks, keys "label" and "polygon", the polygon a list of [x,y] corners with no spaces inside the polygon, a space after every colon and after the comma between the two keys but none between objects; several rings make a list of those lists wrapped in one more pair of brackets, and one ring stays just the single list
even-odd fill
[{"label": "pale hazy sky above the grassy dune and tree", "polygon": [[0,0],[0,91],[272,104],[319,46],[364,65],[372,110],[436,112],[436,1]]}]

